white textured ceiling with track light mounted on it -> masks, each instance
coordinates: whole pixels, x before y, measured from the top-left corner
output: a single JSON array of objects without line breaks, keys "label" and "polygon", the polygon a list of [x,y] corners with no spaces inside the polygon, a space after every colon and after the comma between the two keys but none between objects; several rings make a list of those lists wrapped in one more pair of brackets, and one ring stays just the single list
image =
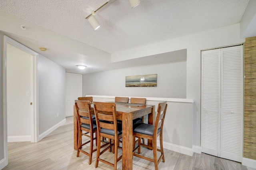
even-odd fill
[{"label": "white textured ceiling with track light mounted on it", "polygon": [[[0,0],[0,11],[111,54],[239,23],[249,0],[141,0],[136,8],[116,0],[96,13],[101,27],[94,31],[84,17],[103,2]],[[38,39],[24,43],[30,46],[29,41],[40,44]]]}]

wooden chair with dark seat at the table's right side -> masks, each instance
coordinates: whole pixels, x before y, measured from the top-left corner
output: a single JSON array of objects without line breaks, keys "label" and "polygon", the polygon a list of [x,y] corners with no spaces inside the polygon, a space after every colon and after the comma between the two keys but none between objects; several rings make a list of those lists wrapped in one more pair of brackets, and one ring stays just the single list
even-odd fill
[{"label": "wooden chair with dark seat at the table's right side", "polygon": [[[157,109],[157,115],[156,115],[156,122],[155,125],[149,125],[146,123],[142,123],[138,127],[136,127],[133,131],[133,135],[135,137],[138,137],[138,147],[134,149],[133,155],[137,156],[139,158],[143,158],[145,160],[149,160],[151,162],[154,162],[155,165],[155,170],[158,170],[158,164],[160,160],[162,159],[163,162],[164,160],[164,149],[163,149],[163,125],[164,125],[164,117],[166,114],[166,109],[167,109],[167,102],[161,102],[158,104],[158,109]],[[156,147],[156,139],[160,135],[160,149],[157,149]],[[146,139],[151,139],[152,142],[152,147],[142,144],[141,138],[146,138]],[[153,149],[153,156],[154,159],[142,156],[140,155],[141,151],[141,146],[145,146],[148,149]],[[138,150],[138,154],[136,154],[136,150]],[[157,151],[161,152],[161,155],[159,158],[157,158]]]}]

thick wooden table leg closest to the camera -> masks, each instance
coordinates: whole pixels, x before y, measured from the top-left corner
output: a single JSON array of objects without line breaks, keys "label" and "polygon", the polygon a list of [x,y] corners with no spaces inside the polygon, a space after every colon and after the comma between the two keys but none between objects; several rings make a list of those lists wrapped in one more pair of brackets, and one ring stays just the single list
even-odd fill
[{"label": "thick wooden table leg closest to the camera", "polygon": [[133,158],[133,131],[132,131],[132,114],[122,114],[122,169],[132,170]]}]

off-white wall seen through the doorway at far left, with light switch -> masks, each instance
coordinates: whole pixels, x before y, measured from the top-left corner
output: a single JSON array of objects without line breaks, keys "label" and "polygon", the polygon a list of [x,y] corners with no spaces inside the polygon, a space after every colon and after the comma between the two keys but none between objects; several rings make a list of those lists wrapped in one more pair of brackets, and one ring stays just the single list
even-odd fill
[{"label": "off-white wall seen through the doorway at far left, with light switch", "polygon": [[8,138],[23,136],[26,140],[22,141],[31,141],[30,96],[26,94],[30,92],[30,57],[7,44],[7,135]]}]

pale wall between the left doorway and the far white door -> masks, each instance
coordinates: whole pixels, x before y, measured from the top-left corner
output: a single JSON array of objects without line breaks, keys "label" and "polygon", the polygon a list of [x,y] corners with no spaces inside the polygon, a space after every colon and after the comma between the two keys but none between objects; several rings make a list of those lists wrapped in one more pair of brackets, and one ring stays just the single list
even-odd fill
[{"label": "pale wall between the left doorway and the far white door", "polygon": [[41,135],[65,119],[65,68],[39,55],[38,78]]}]

